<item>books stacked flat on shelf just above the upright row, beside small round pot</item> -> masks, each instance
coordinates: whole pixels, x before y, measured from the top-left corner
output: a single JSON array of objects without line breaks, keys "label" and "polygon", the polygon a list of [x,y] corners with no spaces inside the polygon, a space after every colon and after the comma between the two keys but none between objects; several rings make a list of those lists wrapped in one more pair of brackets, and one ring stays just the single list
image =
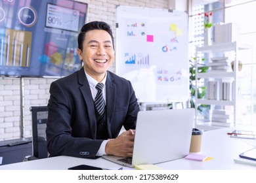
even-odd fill
[{"label": "books stacked flat on shelf just above the upright row, beside small round pot", "polygon": [[228,71],[228,69],[230,69],[230,66],[228,65],[228,58],[211,58],[211,62],[209,62],[209,69],[210,71]]}]

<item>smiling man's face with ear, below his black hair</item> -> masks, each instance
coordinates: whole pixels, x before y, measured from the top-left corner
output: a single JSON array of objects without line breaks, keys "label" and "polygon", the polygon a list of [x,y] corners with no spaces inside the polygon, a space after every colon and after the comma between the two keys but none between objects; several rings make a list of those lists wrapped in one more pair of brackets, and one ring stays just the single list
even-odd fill
[{"label": "smiling man's face with ear, below his black hair", "polygon": [[101,82],[106,71],[114,61],[114,48],[111,36],[103,30],[91,30],[85,34],[83,50],[77,49],[79,59],[83,60],[85,71]]}]

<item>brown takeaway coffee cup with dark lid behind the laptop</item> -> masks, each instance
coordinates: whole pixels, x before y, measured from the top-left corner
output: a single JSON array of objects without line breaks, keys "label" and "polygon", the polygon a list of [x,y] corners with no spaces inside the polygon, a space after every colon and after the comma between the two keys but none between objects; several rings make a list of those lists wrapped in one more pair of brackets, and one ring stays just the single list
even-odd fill
[{"label": "brown takeaway coffee cup with dark lid behind the laptop", "polygon": [[189,152],[200,152],[201,151],[201,142],[202,142],[203,131],[200,129],[192,129],[192,137],[190,142]]}]

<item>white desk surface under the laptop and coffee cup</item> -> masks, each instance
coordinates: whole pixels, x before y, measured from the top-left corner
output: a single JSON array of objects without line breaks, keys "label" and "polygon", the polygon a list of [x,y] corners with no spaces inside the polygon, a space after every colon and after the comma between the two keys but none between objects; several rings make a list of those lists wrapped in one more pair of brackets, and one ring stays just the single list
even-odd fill
[{"label": "white desk surface under the laptop and coffee cup", "polygon": [[[211,131],[205,131],[203,133],[202,152],[200,152],[200,154],[211,156],[213,159],[209,161],[191,161],[182,158],[165,163],[159,163],[157,166],[161,167],[162,169],[175,170],[256,169],[256,166],[253,165],[244,165],[234,162],[234,158],[238,158],[240,153],[253,148],[253,146],[256,146],[256,141],[249,139],[230,138],[226,133],[231,129],[238,129],[238,127],[215,129]],[[45,158],[21,163],[12,163],[9,165],[1,165],[0,169],[65,170],[69,167],[82,164],[102,167],[104,169],[119,169],[121,167],[121,165],[117,165],[116,163],[112,163],[102,158],[83,159],[68,156],[58,156],[54,158]],[[129,168],[125,167],[124,169]]]}]

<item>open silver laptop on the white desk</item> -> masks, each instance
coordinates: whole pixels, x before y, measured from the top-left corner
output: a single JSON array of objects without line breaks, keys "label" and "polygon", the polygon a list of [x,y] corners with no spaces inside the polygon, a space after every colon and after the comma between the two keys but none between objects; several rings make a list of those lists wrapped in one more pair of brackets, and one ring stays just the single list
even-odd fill
[{"label": "open silver laptop on the white desk", "polygon": [[194,114],[194,108],[140,111],[133,158],[102,158],[126,167],[184,158],[189,154]]}]

